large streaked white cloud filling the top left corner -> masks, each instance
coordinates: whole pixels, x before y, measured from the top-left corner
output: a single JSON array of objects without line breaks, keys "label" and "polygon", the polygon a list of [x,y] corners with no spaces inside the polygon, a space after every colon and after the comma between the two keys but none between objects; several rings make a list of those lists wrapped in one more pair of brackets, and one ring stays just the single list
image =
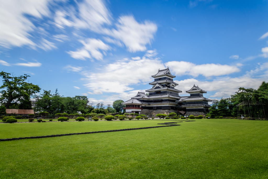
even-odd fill
[{"label": "large streaked white cloud filling the top left corner", "polygon": [[11,46],[36,46],[29,39],[29,32],[40,29],[25,16],[30,15],[35,18],[49,16],[48,5],[53,0],[1,0],[0,6],[0,46],[10,48]]}]

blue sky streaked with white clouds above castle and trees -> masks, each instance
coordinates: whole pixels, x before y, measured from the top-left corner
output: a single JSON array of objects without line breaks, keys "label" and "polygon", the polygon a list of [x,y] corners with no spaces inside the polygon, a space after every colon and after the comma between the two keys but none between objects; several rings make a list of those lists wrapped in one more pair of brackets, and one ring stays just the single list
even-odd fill
[{"label": "blue sky streaked with white clouds above castle and trees", "polygon": [[167,66],[205,97],[268,77],[268,1],[1,1],[0,67],[42,90],[128,100]]}]

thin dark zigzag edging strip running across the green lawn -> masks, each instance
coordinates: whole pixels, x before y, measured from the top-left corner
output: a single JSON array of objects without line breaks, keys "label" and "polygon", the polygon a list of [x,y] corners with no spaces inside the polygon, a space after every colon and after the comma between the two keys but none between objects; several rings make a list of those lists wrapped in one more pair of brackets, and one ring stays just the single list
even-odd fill
[{"label": "thin dark zigzag edging strip running across the green lawn", "polygon": [[[194,121],[194,120],[189,120],[189,121]],[[180,121],[180,122],[183,122],[183,121]],[[77,134],[93,134],[93,133],[101,133],[101,132],[116,132],[116,131],[125,131],[125,130],[137,130],[137,129],[157,128],[157,127],[180,126],[177,124],[177,122],[165,122],[165,123],[159,123],[159,124],[166,125],[166,126],[139,127],[139,128],[131,128],[131,129],[104,130],[104,131],[96,131],[96,132],[81,132],[81,133],[57,134],[57,135],[48,135],[48,136],[35,136],[35,137],[6,138],[6,139],[0,139],[0,142],[1,141],[10,141],[10,140],[20,140],[20,139],[31,139],[31,138],[47,138],[47,137],[59,137],[59,136],[71,136],[71,135],[77,135]]]}]

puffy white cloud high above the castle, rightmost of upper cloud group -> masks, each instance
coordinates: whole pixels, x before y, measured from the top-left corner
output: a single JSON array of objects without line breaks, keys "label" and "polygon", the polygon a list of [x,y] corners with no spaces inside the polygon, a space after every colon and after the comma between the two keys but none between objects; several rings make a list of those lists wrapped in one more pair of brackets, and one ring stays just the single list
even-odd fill
[{"label": "puffy white cloud high above the castle, rightmost of upper cloud group", "polygon": [[103,29],[103,32],[122,41],[129,52],[145,51],[157,31],[156,24],[150,21],[138,23],[133,16],[121,16],[116,27],[117,30]]}]

